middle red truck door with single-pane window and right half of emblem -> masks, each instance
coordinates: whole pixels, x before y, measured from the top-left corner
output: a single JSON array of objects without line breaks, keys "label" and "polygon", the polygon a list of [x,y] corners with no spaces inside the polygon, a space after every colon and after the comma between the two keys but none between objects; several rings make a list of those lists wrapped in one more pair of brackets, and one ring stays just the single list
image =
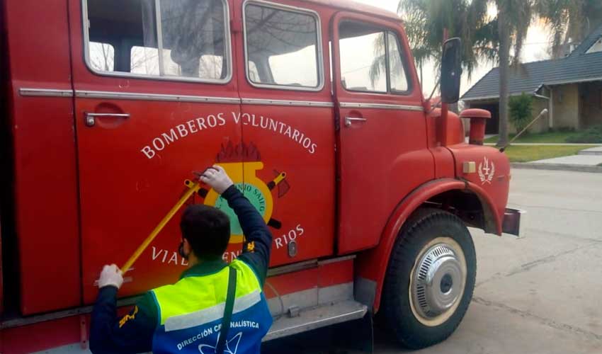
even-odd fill
[{"label": "middle red truck door with single-pane window and right half of emblem", "polygon": [[335,133],[322,37],[328,21],[314,4],[240,4],[245,185],[273,232],[271,264],[331,255]]}]

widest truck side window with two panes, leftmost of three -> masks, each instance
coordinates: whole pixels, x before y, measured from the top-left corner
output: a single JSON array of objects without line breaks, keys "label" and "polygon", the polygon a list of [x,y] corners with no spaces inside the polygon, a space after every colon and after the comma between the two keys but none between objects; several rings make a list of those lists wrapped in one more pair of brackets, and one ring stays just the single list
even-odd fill
[{"label": "widest truck side window with two panes, leftmost of three", "polygon": [[[85,4],[86,60],[96,72],[229,79],[225,0],[86,0]],[[107,45],[113,48],[112,55],[107,55]]]}]

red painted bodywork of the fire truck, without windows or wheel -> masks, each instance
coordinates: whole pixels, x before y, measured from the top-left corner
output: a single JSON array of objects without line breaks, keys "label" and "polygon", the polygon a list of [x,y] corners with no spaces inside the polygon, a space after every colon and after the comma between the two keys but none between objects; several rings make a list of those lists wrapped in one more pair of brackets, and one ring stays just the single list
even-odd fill
[{"label": "red painted bodywork of the fire truck, without windows or wheel", "polygon": [[[1,222],[14,228],[16,254],[2,249],[6,233],[0,251],[18,261],[0,266],[0,280],[3,272],[18,278],[10,284],[18,287],[11,290],[18,316],[0,321],[1,353],[85,341],[102,266],[125,263],[193,171],[212,164],[224,166],[273,231],[274,273],[265,289],[273,312],[278,300],[316,307],[353,297],[354,287],[356,299],[368,299],[376,312],[404,222],[443,193],[478,198],[483,228],[501,234],[508,159],[465,144],[453,113],[440,131],[441,111],[424,102],[397,16],[343,0],[250,1],[316,22],[317,86],[280,87],[251,78],[260,69],[251,74],[246,48],[249,1],[224,1],[220,65],[229,71],[211,82],[93,69],[86,0],[0,3],[8,50],[2,74],[9,77],[2,119],[10,127],[14,198],[13,219]],[[390,83],[380,93],[346,86],[339,42],[354,36],[353,28],[341,33],[348,21],[397,38],[407,91],[394,92]],[[278,49],[273,56],[292,52]],[[448,146],[441,146],[443,134]],[[465,173],[469,161],[479,173]],[[201,190],[192,203],[228,212],[213,190]],[[120,297],[174,282],[186,269],[176,252],[178,217],[125,274]],[[231,261],[241,249],[242,231],[232,222],[223,258]],[[3,290],[0,282],[0,309]]]}]

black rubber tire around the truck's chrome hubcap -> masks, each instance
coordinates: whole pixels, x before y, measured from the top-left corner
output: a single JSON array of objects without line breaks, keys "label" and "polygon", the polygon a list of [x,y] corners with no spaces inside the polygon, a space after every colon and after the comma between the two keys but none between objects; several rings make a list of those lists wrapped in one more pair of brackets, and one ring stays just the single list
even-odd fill
[{"label": "black rubber tire around the truck's chrome hubcap", "polygon": [[[436,248],[433,244],[445,245],[445,242],[440,243],[440,241],[447,241],[448,244],[453,245],[454,249],[458,249],[458,246],[460,246],[462,252],[455,251],[454,254],[463,253],[465,263],[461,262],[460,257],[462,255],[460,254],[458,256],[458,264],[460,265],[460,269],[464,269],[462,266],[465,265],[466,276],[465,280],[463,276],[460,277],[460,279],[464,280],[462,281],[464,282],[462,295],[460,295],[460,290],[458,289],[462,288],[462,282],[456,285],[455,290],[448,290],[447,286],[451,287],[452,282],[444,282],[443,278],[448,277],[445,274],[447,270],[440,270],[440,274],[438,275],[443,276],[440,285],[431,286],[432,289],[436,289],[436,286],[439,286],[440,289],[431,290],[429,294],[434,294],[438,291],[441,294],[452,294],[456,291],[454,293],[456,295],[440,295],[455,296],[455,301],[448,300],[453,303],[453,306],[447,310],[437,309],[436,311],[444,312],[438,315],[438,317],[433,317],[431,321],[428,318],[428,314],[432,314],[430,307],[423,307],[421,305],[425,304],[425,302],[414,300],[418,299],[419,295],[417,294],[421,292],[419,290],[411,292],[410,287],[416,289],[416,284],[420,282],[419,280],[414,281],[417,278],[412,278],[419,276],[414,267],[417,265],[427,266],[427,263],[421,261],[422,257],[426,254],[436,255],[436,251],[429,253],[428,250]],[[452,249],[452,246],[449,247]],[[438,269],[447,268],[441,266]],[[458,274],[462,273],[464,272],[454,274],[458,278]],[[436,343],[444,341],[458,328],[472,299],[476,274],[477,259],[475,256],[475,245],[472,243],[470,232],[462,220],[443,210],[419,210],[406,222],[401,232],[399,232],[397,241],[395,241],[387,267],[387,275],[385,276],[380,312],[382,312],[388,328],[392,329],[394,336],[402,346],[410,349],[433,346]],[[447,279],[449,280],[450,278]],[[416,294],[416,297],[413,297],[414,294]],[[424,315],[425,313],[427,315]]]}]

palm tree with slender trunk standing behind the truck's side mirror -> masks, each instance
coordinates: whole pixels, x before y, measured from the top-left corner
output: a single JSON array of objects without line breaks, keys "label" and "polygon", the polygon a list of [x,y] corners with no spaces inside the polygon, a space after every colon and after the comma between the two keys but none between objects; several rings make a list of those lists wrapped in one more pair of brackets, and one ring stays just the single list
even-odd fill
[{"label": "palm tree with slender trunk standing behind the truck's side mirror", "polygon": [[[400,0],[401,13],[416,61],[441,57],[443,28],[462,39],[462,66],[469,75],[479,60],[499,62],[499,145],[508,142],[508,81],[511,61],[518,69],[535,0]],[[497,8],[496,18],[487,6]],[[513,57],[511,57],[513,47]]]}]

